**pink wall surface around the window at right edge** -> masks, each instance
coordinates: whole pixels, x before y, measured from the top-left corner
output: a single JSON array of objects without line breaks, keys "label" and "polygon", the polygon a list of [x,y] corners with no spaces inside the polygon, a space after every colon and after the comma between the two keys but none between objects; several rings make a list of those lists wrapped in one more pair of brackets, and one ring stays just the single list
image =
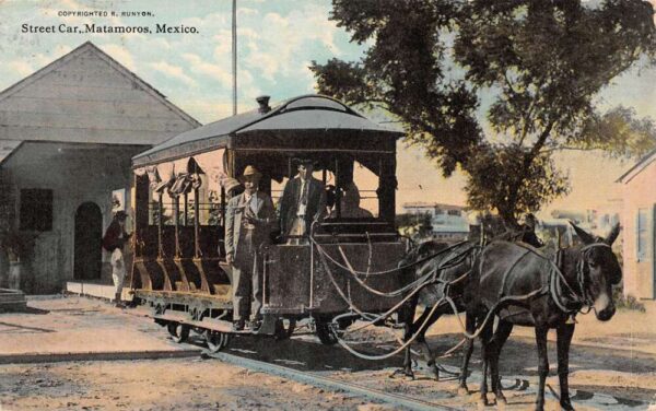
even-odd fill
[{"label": "pink wall surface around the window at right edge", "polygon": [[[624,181],[624,294],[640,298],[654,298],[654,207],[656,204],[656,162],[647,165],[642,172]],[[639,260],[637,248],[637,213],[640,209],[647,211],[647,242],[645,258]]]}]

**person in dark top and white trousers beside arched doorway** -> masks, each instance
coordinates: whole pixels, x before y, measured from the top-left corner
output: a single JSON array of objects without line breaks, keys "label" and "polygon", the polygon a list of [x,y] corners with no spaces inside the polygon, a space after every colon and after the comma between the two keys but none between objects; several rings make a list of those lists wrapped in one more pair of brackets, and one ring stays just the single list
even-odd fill
[{"label": "person in dark top and white trousers beside arched doorway", "polygon": [[127,273],[124,247],[131,236],[131,234],[126,232],[127,219],[128,214],[126,214],[125,211],[117,211],[114,214],[112,224],[109,224],[103,236],[103,248],[112,255],[109,261],[112,263],[112,280],[114,280],[114,300],[116,306],[119,308],[125,307],[121,301],[122,287]]}]

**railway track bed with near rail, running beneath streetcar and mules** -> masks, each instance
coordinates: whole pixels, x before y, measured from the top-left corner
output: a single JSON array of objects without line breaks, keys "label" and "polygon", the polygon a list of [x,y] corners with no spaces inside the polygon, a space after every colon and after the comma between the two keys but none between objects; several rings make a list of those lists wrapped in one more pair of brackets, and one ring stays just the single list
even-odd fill
[{"label": "railway track bed with near rail, running beneath streetcar and mules", "polygon": [[[429,368],[420,362],[418,379],[391,379],[391,371],[400,365],[400,357],[383,362],[358,362],[340,348],[320,345],[314,337],[279,341],[276,344],[261,344],[261,341],[245,342],[229,347],[216,354],[203,352],[203,356],[216,359],[247,369],[276,375],[296,383],[324,388],[331,391],[366,398],[367,400],[389,404],[406,410],[461,410],[476,409],[477,398],[456,394],[456,374],[458,367],[442,364],[441,381],[432,379]],[[377,348],[367,347],[372,353]],[[477,389],[481,375],[475,371],[470,375],[470,388]],[[507,375],[502,378],[506,394],[514,392],[509,409],[525,408],[522,403],[532,403],[536,376]],[[490,399],[493,396],[489,396]],[[558,401],[558,387],[548,387],[547,398]],[[648,403],[625,397],[572,389],[572,400],[577,407],[597,410],[646,410]],[[524,402],[522,402],[524,401]]]}]

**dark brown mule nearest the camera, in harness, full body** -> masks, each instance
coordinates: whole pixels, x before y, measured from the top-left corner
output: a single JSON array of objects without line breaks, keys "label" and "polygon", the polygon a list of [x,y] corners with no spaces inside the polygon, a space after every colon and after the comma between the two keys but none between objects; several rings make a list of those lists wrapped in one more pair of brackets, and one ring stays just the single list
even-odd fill
[{"label": "dark brown mule nearest the camera, in harness, full body", "polygon": [[[518,325],[535,328],[539,356],[536,410],[544,407],[544,381],[549,374],[547,332],[553,328],[557,330],[560,404],[565,410],[573,410],[567,376],[575,324],[570,319],[585,307],[594,310],[601,321],[611,319],[616,313],[612,285],[621,281],[622,270],[611,249],[619,224],[607,238],[595,237],[571,224],[583,244],[561,249],[555,263],[530,246],[507,242],[491,243],[475,261],[465,296],[468,331],[473,331],[473,319],[480,322],[491,310],[499,317],[494,332],[492,321],[487,321],[480,332],[483,347],[480,401],[483,404],[488,404],[488,367],[496,401],[505,402],[499,378],[499,357],[513,326]],[[464,388],[467,387],[466,378],[464,371]]]}]

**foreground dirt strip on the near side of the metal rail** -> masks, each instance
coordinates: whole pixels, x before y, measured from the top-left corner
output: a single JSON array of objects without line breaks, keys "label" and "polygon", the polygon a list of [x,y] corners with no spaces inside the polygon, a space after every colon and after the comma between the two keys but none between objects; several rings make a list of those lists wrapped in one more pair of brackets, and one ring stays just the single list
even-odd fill
[{"label": "foreground dirt strip on the near side of the metal rail", "polygon": [[0,380],[2,411],[380,408],[213,360],[4,365]]}]

